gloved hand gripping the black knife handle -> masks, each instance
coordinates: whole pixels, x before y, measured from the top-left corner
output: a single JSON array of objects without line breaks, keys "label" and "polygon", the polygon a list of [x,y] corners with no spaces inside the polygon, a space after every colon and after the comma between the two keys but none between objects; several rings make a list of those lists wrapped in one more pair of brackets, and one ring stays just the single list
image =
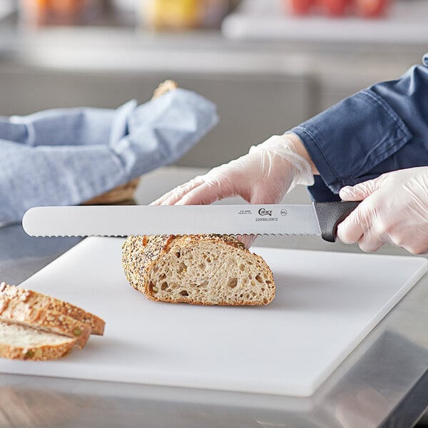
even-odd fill
[{"label": "gloved hand gripping the black knife handle", "polygon": [[413,254],[428,252],[428,167],[397,170],[340,190],[362,203],[337,228],[343,243],[376,251],[384,243]]}]

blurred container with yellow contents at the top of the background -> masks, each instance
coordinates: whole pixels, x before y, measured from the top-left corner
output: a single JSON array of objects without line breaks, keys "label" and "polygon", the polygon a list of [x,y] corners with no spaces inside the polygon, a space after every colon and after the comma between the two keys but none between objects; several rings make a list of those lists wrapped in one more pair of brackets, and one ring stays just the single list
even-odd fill
[{"label": "blurred container with yellow contents at the top of the background", "polygon": [[140,0],[138,13],[148,29],[185,30],[220,28],[237,4],[233,0]]}]

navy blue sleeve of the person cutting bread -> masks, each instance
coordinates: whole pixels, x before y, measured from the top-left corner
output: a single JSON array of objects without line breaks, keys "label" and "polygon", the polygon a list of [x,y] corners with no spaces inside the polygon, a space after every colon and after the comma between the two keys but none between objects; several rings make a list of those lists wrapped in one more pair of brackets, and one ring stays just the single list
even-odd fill
[{"label": "navy blue sleeve of the person cutting bread", "polygon": [[428,165],[428,54],[423,61],[292,128],[320,171],[313,198],[335,200],[344,185]]}]

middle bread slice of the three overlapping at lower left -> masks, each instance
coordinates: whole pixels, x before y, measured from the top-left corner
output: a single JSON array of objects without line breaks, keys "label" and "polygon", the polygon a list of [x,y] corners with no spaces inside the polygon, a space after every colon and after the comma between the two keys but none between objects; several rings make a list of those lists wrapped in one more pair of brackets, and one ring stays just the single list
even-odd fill
[{"label": "middle bread slice of the three overlapping at lower left", "polygon": [[66,335],[75,339],[76,346],[80,348],[86,345],[91,335],[90,326],[68,315],[31,307],[24,300],[2,294],[0,294],[0,320],[14,321],[46,332]]}]

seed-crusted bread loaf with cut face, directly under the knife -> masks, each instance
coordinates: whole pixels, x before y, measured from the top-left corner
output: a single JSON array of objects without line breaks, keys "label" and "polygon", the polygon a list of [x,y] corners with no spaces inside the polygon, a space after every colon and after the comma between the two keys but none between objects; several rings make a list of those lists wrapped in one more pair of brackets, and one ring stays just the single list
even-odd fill
[{"label": "seed-crusted bread loaf with cut face, directly under the knife", "polygon": [[232,235],[130,236],[122,264],[151,300],[196,305],[267,305],[272,271]]}]

